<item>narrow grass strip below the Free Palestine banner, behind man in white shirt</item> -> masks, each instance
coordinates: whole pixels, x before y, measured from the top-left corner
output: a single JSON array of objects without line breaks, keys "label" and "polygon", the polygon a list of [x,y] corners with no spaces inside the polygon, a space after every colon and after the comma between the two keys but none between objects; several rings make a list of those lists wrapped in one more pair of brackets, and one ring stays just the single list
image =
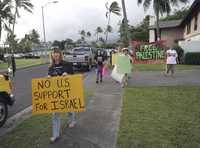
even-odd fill
[{"label": "narrow grass strip below the Free Palestine banner, behind man in white shirt", "polygon": [[[177,65],[177,70],[189,70],[194,68],[192,65]],[[164,71],[165,64],[135,64],[133,70],[136,71]]]}]

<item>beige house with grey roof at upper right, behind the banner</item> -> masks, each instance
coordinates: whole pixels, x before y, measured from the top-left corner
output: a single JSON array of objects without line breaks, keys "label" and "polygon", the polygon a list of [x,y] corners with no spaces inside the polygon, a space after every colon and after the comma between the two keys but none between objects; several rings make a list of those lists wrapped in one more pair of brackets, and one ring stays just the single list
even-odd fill
[{"label": "beige house with grey roof at upper right, behind the banner", "polygon": [[[149,42],[157,40],[155,17],[150,17]],[[187,46],[200,51],[200,0],[195,0],[191,5],[188,14],[182,20],[160,21],[161,40],[166,41],[166,46],[173,46],[179,43],[180,46]],[[197,47],[199,46],[199,47]]]}]

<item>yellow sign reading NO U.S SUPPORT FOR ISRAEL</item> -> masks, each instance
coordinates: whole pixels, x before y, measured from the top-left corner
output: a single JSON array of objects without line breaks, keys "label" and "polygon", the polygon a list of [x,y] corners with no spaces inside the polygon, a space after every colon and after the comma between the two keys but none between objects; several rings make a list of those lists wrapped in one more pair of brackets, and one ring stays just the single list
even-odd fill
[{"label": "yellow sign reading NO U.S SUPPORT FOR ISRAEL", "polygon": [[82,75],[32,79],[32,113],[83,112]]}]

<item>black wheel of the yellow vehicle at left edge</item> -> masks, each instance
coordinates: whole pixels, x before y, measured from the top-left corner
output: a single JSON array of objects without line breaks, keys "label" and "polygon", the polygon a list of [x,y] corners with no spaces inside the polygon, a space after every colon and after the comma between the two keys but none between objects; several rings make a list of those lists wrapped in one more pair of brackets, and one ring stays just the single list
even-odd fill
[{"label": "black wheel of the yellow vehicle at left edge", "polygon": [[8,106],[6,103],[0,101],[0,127],[6,122],[8,116]]}]

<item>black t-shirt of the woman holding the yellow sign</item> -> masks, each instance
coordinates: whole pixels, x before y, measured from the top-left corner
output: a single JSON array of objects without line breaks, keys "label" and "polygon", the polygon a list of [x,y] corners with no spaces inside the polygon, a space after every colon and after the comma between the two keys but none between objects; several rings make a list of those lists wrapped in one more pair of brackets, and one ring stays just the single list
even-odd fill
[{"label": "black t-shirt of the woman holding the yellow sign", "polygon": [[54,64],[49,67],[48,75],[50,76],[62,76],[62,74],[66,72],[67,74],[73,74],[73,66],[71,63],[66,61],[61,61],[59,64]]}]

